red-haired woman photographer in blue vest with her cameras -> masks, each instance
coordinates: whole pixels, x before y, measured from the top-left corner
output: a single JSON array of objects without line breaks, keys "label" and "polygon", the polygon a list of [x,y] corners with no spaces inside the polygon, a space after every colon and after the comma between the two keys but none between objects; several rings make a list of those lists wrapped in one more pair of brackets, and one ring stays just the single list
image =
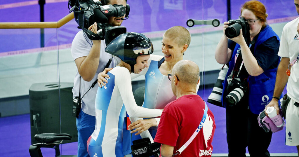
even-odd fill
[{"label": "red-haired woman photographer in blue vest with her cameras", "polygon": [[258,125],[257,117],[273,95],[280,39],[266,25],[267,16],[261,2],[245,2],[239,19],[224,22],[216,48],[216,61],[229,63],[221,99],[226,107],[228,156],[245,156],[247,146],[250,156],[270,156],[272,133]]}]

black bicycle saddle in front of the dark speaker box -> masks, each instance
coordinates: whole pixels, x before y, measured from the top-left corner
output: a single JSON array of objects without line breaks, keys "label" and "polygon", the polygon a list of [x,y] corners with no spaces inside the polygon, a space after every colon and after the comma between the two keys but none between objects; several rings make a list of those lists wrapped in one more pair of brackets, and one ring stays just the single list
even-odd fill
[{"label": "black bicycle saddle in front of the dark speaker box", "polygon": [[50,144],[54,143],[55,141],[61,140],[71,140],[72,136],[70,134],[54,134],[54,133],[42,133],[34,135],[34,139],[36,141]]}]

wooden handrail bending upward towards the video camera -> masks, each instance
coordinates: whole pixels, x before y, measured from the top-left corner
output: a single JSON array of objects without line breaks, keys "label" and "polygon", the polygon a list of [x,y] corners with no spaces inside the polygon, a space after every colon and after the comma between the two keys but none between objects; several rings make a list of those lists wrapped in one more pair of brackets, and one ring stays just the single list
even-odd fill
[{"label": "wooden handrail bending upward towards the video camera", "polygon": [[69,13],[57,22],[0,22],[0,29],[60,28],[72,19],[74,19],[74,13]]}]

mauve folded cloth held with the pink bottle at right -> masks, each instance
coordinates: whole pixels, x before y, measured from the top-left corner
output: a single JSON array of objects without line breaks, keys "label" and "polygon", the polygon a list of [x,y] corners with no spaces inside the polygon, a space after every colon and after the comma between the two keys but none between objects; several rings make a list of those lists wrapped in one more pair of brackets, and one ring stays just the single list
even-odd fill
[{"label": "mauve folded cloth held with the pink bottle at right", "polygon": [[[281,109],[279,109],[279,114],[282,115]],[[283,129],[283,126],[277,127],[272,120],[266,116],[265,111],[260,112],[260,115],[257,117],[257,121],[259,122],[259,126],[262,127],[266,132],[269,132],[271,129],[272,132],[277,132]]]}]

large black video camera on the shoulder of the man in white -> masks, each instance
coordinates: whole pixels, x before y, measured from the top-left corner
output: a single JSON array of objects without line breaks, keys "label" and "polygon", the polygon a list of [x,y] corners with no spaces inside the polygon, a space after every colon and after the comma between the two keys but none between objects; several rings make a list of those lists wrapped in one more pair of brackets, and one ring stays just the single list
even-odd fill
[{"label": "large black video camera on the shoulder of the man in white", "polygon": [[[129,4],[126,6],[106,5],[105,0],[69,0],[68,6],[69,9],[71,7],[70,13],[74,12],[75,21],[79,25],[78,28],[82,29],[91,40],[105,39],[105,43],[108,45],[118,35],[126,33],[126,27],[109,25],[107,17],[121,17],[126,14],[125,18],[128,19]],[[88,30],[94,22],[97,22],[97,34]]]}]

